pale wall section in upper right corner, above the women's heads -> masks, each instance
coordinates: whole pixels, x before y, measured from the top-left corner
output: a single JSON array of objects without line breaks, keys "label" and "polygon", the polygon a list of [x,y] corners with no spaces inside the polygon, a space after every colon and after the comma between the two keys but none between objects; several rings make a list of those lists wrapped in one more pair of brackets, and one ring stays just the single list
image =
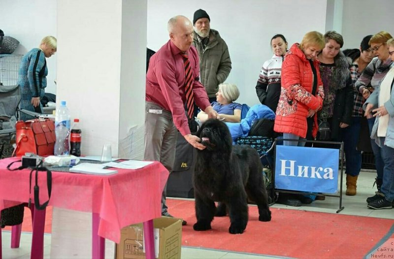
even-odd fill
[{"label": "pale wall section in upper right corner, above the women's heads", "polygon": [[393,0],[344,0],[343,49],[358,48],[364,36],[380,31],[394,36],[393,15]]}]

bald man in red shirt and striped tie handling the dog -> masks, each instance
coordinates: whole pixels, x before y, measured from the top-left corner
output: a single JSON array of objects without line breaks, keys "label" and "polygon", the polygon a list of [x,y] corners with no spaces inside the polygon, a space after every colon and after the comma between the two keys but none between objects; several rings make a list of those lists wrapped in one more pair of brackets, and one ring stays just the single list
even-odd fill
[{"label": "bald man in red shirt and striped tie handling the dog", "polygon": [[[190,62],[195,103],[209,118],[219,118],[219,115],[213,110],[205,88],[199,82],[198,54],[192,46],[192,22],[185,16],[175,16],[168,21],[168,32],[170,39],[152,56],[146,74],[144,160],[159,161],[171,171],[177,129],[193,147],[205,148],[200,139],[191,134],[185,113],[186,75],[182,55],[186,54]],[[162,196],[162,215],[171,217],[167,212],[165,196],[166,186]],[[186,225],[185,221],[183,225]]]}]

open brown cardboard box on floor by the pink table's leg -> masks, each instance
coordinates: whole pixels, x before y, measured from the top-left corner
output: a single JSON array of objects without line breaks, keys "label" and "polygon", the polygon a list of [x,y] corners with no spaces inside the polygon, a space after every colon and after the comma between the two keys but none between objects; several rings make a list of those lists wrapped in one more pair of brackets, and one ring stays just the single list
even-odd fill
[{"label": "open brown cardboard box on floor by the pink table's leg", "polygon": [[[161,217],[153,220],[153,227],[156,258],[181,258],[182,220]],[[145,259],[143,240],[142,224],[122,228],[121,240],[115,249],[115,259]]]}]

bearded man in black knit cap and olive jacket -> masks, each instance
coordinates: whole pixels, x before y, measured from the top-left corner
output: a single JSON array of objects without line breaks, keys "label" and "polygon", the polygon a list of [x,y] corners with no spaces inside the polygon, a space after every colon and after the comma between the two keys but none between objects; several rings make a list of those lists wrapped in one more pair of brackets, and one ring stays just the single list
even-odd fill
[{"label": "bearded man in black knit cap and olive jacket", "polygon": [[209,101],[216,101],[219,85],[230,74],[229,48],[219,32],[210,28],[209,15],[202,9],[194,13],[194,40],[200,58],[200,80],[208,94]]}]

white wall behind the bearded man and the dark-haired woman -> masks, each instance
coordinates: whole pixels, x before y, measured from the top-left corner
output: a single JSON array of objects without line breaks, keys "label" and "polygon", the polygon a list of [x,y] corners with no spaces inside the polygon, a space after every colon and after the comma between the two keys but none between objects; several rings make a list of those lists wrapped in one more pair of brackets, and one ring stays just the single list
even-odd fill
[{"label": "white wall behind the bearded man and the dark-haired woman", "polygon": [[226,82],[238,86],[238,102],[253,105],[259,102],[255,86],[261,66],[273,55],[271,37],[282,33],[293,44],[305,32],[324,32],[326,7],[326,0],[148,0],[148,47],[156,51],[168,40],[169,18],[182,14],[193,21],[194,12],[204,9],[211,28],[229,46],[232,70]]}]

